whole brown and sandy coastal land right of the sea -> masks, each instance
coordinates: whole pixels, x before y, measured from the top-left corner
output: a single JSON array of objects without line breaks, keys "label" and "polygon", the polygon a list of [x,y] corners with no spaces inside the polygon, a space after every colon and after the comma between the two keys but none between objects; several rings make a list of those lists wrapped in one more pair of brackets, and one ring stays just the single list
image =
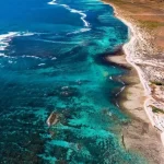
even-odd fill
[{"label": "whole brown and sandy coastal land right of the sea", "polygon": [[129,27],[124,54],[108,56],[109,62],[128,68],[121,79],[127,86],[119,105],[131,117],[122,127],[126,149],[141,152],[149,163],[164,163],[164,2],[105,0]]}]

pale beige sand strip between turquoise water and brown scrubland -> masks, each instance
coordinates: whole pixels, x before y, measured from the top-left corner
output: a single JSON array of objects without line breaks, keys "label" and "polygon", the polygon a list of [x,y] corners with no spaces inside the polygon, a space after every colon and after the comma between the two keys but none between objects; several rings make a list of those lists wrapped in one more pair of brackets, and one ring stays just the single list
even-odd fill
[{"label": "pale beige sand strip between turquoise water and brown scrubland", "polygon": [[[132,59],[132,55],[134,56],[136,51],[138,50],[137,42],[141,39],[142,42],[145,42],[144,44],[148,43],[148,40],[144,40],[144,38],[142,37],[142,35],[145,34],[140,33],[140,30],[136,26],[134,23],[131,23],[131,21],[129,20],[127,21],[127,17],[124,17],[119,9],[117,9],[117,5],[115,5],[113,2],[109,2],[109,0],[105,0],[104,2],[112,5],[115,16],[129,27],[129,40],[122,46],[122,50],[125,54],[126,62],[132,68],[132,71],[130,71],[132,72],[131,79],[138,77],[136,79],[136,82],[133,82],[133,80],[130,80],[129,74],[122,77],[122,81],[128,82],[129,85],[126,86],[126,89],[121,92],[119,96],[119,105],[122,109],[126,110],[126,113],[129,113],[132,117],[134,117],[132,118],[133,120],[131,125],[122,128],[126,147],[131,150],[142,152],[149,159],[150,163],[161,164],[162,162],[164,162],[164,148],[162,147],[162,144],[164,145],[164,131],[159,129],[153,120],[152,108],[150,107],[153,104],[151,102],[152,89],[150,87],[149,81],[145,77],[147,74],[140,69],[139,66],[137,66],[137,61]],[[143,52],[142,50],[145,49],[141,48],[141,50],[139,50],[138,52]],[[153,49],[151,50],[153,51]],[[127,63],[122,60],[122,57],[120,58],[119,56],[109,56],[107,57],[107,60],[117,65],[127,66]],[[138,92],[140,94],[137,95],[136,93]],[[129,96],[128,94],[131,95]],[[127,97],[130,98],[130,101]],[[153,101],[155,102],[155,99]],[[134,107],[137,105],[138,112],[134,110],[134,107],[132,105],[134,105]],[[152,126],[150,126],[150,122]],[[157,130],[154,127],[156,127]],[[133,134],[138,137],[138,140],[133,139]],[[147,137],[140,137],[140,134]],[[136,144],[136,142],[138,143]],[[155,151],[147,150],[148,148],[154,149],[157,153]]]}]

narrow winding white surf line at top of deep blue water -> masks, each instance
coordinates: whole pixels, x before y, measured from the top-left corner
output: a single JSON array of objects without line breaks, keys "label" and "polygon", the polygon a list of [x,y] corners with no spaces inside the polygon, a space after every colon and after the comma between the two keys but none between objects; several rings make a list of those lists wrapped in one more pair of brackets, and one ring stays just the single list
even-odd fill
[{"label": "narrow winding white surf line at top of deep blue water", "polygon": [[[56,0],[52,0],[52,1],[48,2],[48,4],[57,4],[57,3],[56,3]],[[80,14],[80,15],[81,15],[81,20],[82,20],[83,23],[84,23],[84,26],[86,26],[86,27],[90,26],[90,23],[89,23],[87,21],[85,21],[85,17],[86,17],[86,14],[85,14],[85,13],[83,13],[82,11],[75,10],[75,9],[71,9],[71,8],[70,8],[69,5],[67,5],[67,4],[59,4],[59,5],[65,7],[67,10],[69,10],[69,11],[72,12],[72,13],[78,13],[78,14]]]}]

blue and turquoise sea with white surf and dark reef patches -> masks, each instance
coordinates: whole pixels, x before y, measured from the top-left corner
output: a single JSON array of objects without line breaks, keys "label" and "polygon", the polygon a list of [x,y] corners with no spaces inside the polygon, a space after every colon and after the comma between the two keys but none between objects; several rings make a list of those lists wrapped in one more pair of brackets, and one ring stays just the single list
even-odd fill
[{"label": "blue and turquoise sea with white surf and dark reef patches", "polygon": [[[0,161],[143,164],[121,145],[125,73],[104,56],[128,30],[99,0],[0,1]],[[55,112],[59,121],[46,124]]]}]

